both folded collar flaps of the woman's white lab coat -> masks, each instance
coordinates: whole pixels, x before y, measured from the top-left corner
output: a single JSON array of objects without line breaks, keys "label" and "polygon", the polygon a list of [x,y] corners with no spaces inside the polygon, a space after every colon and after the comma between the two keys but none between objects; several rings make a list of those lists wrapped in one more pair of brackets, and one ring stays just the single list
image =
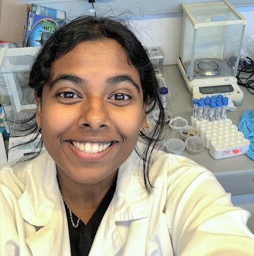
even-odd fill
[{"label": "both folded collar flaps of the woman's white lab coat", "polygon": [[[135,152],[119,167],[116,191],[112,198],[113,221],[140,219],[148,216],[148,193],[142,184],[142,160]],[[53,159],[45,150],[27,164],[26,189],[19,198],[23,218],[32,225],[46,226],[53,214],[59,187]]]}]

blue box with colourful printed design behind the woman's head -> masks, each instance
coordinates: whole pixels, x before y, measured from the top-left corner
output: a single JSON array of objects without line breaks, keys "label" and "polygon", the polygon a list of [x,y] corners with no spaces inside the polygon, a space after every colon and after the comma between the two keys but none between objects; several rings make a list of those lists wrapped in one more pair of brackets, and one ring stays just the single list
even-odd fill
[{"label": "blue box with colourful printed design behind the woman's head", "polygon": [[23,46],[44,45],[52,33],[65,23],[65,11],[32,4],[27,13]]}]

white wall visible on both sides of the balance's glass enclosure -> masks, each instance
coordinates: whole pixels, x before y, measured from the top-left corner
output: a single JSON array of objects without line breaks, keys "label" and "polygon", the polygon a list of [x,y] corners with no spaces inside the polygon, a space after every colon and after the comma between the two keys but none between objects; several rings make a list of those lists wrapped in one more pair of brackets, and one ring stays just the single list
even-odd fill
[{"label": "white wall visible on both sides of the balance's glass enclosure", "polygon": [[[237,9],[247,19],[245,38],[248,40],[248,36],[254,37],[254,6]],[[146,15],[133,21],[135,33],[145,46],[163,48],[164,64],[176,64],[180,51],[181,25],[182,12]]]}]

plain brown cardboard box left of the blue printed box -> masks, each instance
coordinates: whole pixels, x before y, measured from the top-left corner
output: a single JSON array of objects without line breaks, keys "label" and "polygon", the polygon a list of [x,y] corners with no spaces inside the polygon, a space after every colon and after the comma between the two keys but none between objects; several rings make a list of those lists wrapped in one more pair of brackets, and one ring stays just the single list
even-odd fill
[{"label": "plain brown cardboard box left of the blue printed box", "polygon": [[27,3],[0,0],[0,41],[22,43]]}]

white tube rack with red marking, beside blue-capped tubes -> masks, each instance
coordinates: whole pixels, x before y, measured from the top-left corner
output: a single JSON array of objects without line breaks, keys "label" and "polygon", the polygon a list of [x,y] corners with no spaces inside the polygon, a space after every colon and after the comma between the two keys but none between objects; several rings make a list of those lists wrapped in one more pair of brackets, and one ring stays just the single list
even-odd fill
[{"label": "white tube rack with red marking, beside blue-capped tubes", "polygon": [[191,117],[191,124],[199,129],[199,136],[214,159],[242,155],[249,150],[250,141],[228,118],[209,122]]}]

